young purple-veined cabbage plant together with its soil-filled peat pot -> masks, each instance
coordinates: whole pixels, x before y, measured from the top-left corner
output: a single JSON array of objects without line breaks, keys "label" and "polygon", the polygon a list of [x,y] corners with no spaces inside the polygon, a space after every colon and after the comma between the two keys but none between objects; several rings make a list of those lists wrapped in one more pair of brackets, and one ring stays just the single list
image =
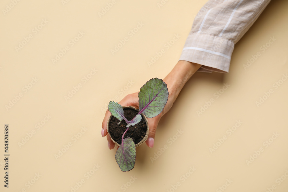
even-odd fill
[{"label": "young purple-veined cabbage plant together with its soil-filled peat pot", "polygon": [[136,147],[148,138],[147,118],[156,117],[163,111],[168,94],[166,83],[162,79],[153,78],[140,88],[139,109],[132,106],[122,107],[114,101],[109,102],[108,110],[111,115],[107,121],[107,132],[111,140],[119,146],[115,159],[122,171],[134,168]]}]

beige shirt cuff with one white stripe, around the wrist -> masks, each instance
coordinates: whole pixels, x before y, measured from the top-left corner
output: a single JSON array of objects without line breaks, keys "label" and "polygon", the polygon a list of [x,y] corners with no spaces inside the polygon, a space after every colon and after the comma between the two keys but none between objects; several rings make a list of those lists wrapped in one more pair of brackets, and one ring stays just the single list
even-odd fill
[{"label": "beige shirt cuff with one white stripe, around the wrist", "polygon": [[179,60],[201,64],[200,72],[228,73],[234,43],[209,34],[190,34]]}]

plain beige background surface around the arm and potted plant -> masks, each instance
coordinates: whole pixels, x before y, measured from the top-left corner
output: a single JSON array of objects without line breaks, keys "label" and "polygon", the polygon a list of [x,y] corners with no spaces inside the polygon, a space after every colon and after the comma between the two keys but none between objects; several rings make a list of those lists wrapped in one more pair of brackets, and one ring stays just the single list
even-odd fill
[{"label": "plain beige background surface around the arm and potted plant", "polygon": [[[206,0],[168,1],[160,8],[160,0],[116,0],[100,18],[98,12],[110,2],[71,0],[63,5],[61,0],[17,1],[4,14],[3,9],[12,1],[1,1],[0,124],[3,128],[9,123],[11,155],[7,189],[3,187],[1,129],[0,191],[71,192],[71,187],[82,180],[85,183],[76,187],[77,192],[174,191],[177,182],[180,186],[175,191],[221,191],[219,187],[224,185],[227,192],[264,192],[275,185],[273,191],[286,192],[288,81],[277,89],[273,84],[288,72],[288,2],[274,0],[268,5],[236,44],[228,74],[196,73],[187,82],[172,109],[161,119],[154,148],[138,147],[135,168],[130,172],[121,172],[115,149],[109,151],[106,138],[101,137],[103,111],[110,100],[120,101],[149,79],[168,74],[179,59],[193,18]],[[43,26],[35,34],[34,28],[41,22]],[[128,32],[138,22],[144,25],[130,37]],[[71,46],[69,41],[79,31],[85,34]],[[167,50],[164,45],[175,34],[181,37]],[[17,52],[15,47],[29,35],[33,38]],[[112,55],[111,49],[125,37],[128,41]],[[276,39],[272,44],[270,37]],[[265,44],[269,47],[263,52]],[[66,46],[69,50],[53,64],[52,59]],[[147,62],[161,49],[165,53],[149,67]],[[245,70],[243,65],[257,52],[261,56]],[[84,83],[82,78],[91,69],[97,72]],[[35,77],[36,83],[32,81]],[[29,84],[31,81],[34,85]],[[129,81],[132,86],[128,88]],[[82,87],[66,101],[65,96],[78,83]],[[230,87],[216,99],[214,94],[221,91],[223,83]],[[25,86],[32,87],[26,90]],[[259,97],[270,89],[270,97],[257,106]],[[19,93],[22,97],[6,109]],[[207,108],[205,102],[211,98],[215,102]],[[198,116],[201,107],[207,109]],[[47,122],[45,115],[51,116]],[[237,120],[243,123],[229,136],[226,130]],[[37,129],[37,123],[43,126]],[[83,134],[82,127],[86,128]],[[175,136],[178,130],[184,132],[179,137]],[[19,146],[31,132],[35,134]],[[270,145],[263,145],[273,133],[279,136],[270,139]],[[81,137],[75,139],[77,134]],[[171,142],[173,136],[177,140]],[[227,139],[211,153],[209,148],[223,136]],[[56,159],[69,142],[72,146]],[[164,145],[168,148],[162,153],[159,148]],[[247,165],[246,160],[260,147],[264,151]],[[160,155],[152,163],[155,153]],[[190,174],[193,166],[196,170]],[[93,174],[88,178],[85,174],[90,171]],[[38,173],[41,176],[34,183]],[[189,177],[183,179],[183,174]],[[131,180],[133,183],[131,176],[137,178]],[[281,176],[285,180],[278,185]],[[225,186],[229,184],[226,179],[233,182]]]}]

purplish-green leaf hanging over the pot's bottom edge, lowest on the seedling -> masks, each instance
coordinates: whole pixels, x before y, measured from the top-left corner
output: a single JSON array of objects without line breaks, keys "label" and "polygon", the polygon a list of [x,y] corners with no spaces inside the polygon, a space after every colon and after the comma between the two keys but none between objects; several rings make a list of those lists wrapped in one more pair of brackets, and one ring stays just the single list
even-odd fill
[{"label": "purplish-green leaf hanging over the pot's bottom edge, lowest on the seedling", "polygon": [[115,159],[121,171],[130,171],[134,168],[136,160],[136,148],[132,138],[128,137],[122,140],[117,149]]}]

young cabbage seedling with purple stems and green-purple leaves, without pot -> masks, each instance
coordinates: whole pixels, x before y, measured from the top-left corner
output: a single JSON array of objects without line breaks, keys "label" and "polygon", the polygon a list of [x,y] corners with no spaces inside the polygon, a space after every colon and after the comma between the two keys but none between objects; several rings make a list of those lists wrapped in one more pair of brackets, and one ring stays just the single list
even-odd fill
[{"label": "young cabbage seedling with purple stems and green-purple leaves, without pot", "polygon": [[114,117],[120,120],[118,125],[123,119],[127,123],[127,129],[122,135],[121,145],[115,154],[115,159],[122,171],[130,171],[133,169],[136,160],[135,143],[130,137],[124,139],[125,133],[129,130],[130,126],[134,126],[141,121],[141,113],[147,118],[159,115],[167,103],[168,94],[167,85],[162,79],[154,78],[147,81],[145,85],[140,88],[138,94],[139,113],[130,121],[125,118],[123,108],[119,103],[114,101],[109,102],[108,110]]}]

